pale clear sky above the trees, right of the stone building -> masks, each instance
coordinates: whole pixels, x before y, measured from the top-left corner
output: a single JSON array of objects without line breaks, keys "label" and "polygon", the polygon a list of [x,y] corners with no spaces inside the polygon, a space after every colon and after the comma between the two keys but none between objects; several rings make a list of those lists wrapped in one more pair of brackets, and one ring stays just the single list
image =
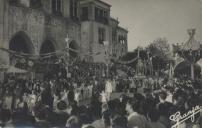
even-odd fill
[{"label": "pale clear sky above the trees, right of the stone building", "polygon": [[187,29],[195,28],[202,43],[202,0],[102,0],[111,5],[111,16],[127,28],[128,48],[147,46],[159,37],[170,44],[186,42]]}]

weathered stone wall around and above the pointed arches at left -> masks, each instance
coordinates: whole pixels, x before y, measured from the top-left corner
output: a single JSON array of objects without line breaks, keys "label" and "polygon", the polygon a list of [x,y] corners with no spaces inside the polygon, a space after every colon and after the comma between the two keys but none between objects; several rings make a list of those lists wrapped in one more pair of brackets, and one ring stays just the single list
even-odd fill
[{"label": "weathered stone wall around and above the pointed arches at left", "polygon": [[[9,48],[12,37],[18,32],[24,32],[30,38],[30,45],[34,47],[33,54],[39,54],[41,45],[45,40],[51,40],[56,49],[64,49],[67,33],[70,41],[74,40],[80,46],[80,24],[71,19],[48,15],[37,9],[17,6],[9,6],[4,14],[6,15],[4,20],[7,22],[3,24],[5,35],[4,41],[0,44],[6,49]],[[0,26],[0,28],[0,34],[2,34],[3,27]],[[2,40],[2,37],[0,39]],[[80,49],[78,50],[80,51]],[[9,60],[8,55],[5,58]]]}]

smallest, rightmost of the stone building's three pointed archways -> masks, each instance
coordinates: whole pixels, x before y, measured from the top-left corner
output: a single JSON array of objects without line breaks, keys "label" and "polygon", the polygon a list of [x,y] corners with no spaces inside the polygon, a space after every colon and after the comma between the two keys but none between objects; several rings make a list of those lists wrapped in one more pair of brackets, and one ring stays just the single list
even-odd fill
[{"label": "smallest, rightmost of the stone building's three pointed archways", "polygon": [[[70,51],[69,51],[69,55],[70,57],[72,58],[76,58],[78,57],[78,45],[76,43],[76,41],[71,41],[70,44],[69,44],[69,48],[70,48]],[[72,50],[71,50],[72,49]]]}]

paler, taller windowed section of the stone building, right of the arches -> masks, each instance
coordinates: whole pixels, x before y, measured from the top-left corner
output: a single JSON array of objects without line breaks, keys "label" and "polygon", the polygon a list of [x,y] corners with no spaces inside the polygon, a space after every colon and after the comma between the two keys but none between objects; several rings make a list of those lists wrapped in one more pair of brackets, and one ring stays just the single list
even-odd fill
[{"label": "paler, taller windowed section of the stone building, right of the arches", "polygon": [[89,60],[106,61],[107,46],[104,45],[104,41],[109,42],[108,56],[118,58],[128,51],[128,31],[119,26],[118,20],[110,17],[110,7],[111,5],[100,0],[81,0],[80,2],[81,46],[84,50],[87,49],[95,54],[88,56]]}]

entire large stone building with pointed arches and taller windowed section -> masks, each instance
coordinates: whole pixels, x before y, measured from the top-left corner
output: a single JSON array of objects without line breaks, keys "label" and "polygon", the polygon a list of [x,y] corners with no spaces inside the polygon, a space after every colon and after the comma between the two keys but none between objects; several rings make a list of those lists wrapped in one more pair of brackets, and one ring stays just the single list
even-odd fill
[{"label": "entire large stone building with pointed arches and taller windowed section", "polygon": [[[128,50],[128,31],[110,7],[101,0],[0,0],[0,47],[37,57],[64,49],[68,34],[73,57],[106,62],[107,47],[118,58]],[[8,52],[0,54],[1,65],[12,64]]]}]

